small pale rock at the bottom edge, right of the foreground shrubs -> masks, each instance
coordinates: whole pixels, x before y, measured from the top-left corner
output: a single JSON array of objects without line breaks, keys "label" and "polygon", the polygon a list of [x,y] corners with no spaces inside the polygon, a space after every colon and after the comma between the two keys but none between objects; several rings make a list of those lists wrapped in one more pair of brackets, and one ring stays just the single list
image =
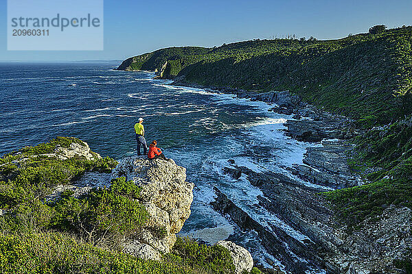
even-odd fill
[{"label": "small pale rock at the bottom edge, right of the foreground shrubs", "polygon": [[233,242],[227,240],[220,240],[216,243],[229,249],[230,256],[233,259],[233,264],[235,264],[235,273],[241,274],[243,271],[250,272],[253,268],[253,258],[251,253],[247,251],[244,247],[240,247]]}]

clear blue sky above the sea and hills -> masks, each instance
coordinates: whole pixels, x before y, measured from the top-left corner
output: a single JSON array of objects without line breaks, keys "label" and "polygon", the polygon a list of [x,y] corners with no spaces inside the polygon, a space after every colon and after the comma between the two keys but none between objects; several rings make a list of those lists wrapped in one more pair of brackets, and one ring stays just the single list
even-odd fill
[{"label": "clear blue sky above the sea and hills", "polygon": [[103,51],[7,51],[7,1],[0,3],[3,61],[123,60],[162,47],[213,47],[286,34],[334,39],[381,23],[412,25],[411,0],[105,0]]}]

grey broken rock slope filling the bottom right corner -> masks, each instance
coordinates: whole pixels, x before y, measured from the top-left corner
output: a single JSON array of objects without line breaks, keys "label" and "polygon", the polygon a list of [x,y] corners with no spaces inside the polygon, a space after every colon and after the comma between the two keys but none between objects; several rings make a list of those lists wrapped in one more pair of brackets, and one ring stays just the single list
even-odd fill
[{"label": "grey broken rock slope filling the bottom right corner", "polygon": [[377,217],[361,223],[360,229],[345,238],[344,253],[332,253],[328,260],[345,274],[405,273],[393,266],[411,254],[412,210],[392,205]]}]

